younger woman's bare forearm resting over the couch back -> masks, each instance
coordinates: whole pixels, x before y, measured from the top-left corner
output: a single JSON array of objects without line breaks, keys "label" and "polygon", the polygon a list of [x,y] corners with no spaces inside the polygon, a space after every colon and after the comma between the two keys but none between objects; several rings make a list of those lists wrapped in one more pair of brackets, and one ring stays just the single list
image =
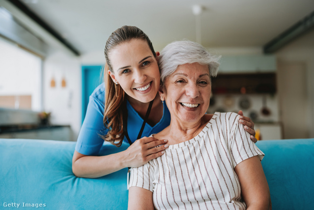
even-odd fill
[{"label": "younger woman's bare forearm resting over the couch back", "polygon": [[105,156],[82,155],[75,151],[72,170],[75,176],[98,178],[128,167],[124,151]]}]

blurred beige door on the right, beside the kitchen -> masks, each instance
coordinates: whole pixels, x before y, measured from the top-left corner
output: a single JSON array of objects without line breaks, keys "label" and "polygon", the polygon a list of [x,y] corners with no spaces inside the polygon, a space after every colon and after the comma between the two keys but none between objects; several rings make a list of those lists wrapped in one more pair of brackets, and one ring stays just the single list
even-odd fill
[{"label": "blurred beige door on the right, beside the kitchen", "polygon": [[305,64],[302,62],[279,61],[277,77],[284,138],[308,138]]}]

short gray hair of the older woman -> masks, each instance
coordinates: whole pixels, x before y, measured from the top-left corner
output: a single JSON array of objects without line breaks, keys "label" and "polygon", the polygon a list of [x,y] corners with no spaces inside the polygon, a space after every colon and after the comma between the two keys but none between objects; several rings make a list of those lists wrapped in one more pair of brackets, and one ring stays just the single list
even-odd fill
[{"label": "short gray hair of the older woman", "polygon": [[175,72],[179,65],[198,62],[202,65],[208,65],[210,77],[217,75],[219,59],[221,56],[212,56],[200,44],[189,41],[174,41],[168,44],[160,53],[159,70],[161,84],[165,79]]}]

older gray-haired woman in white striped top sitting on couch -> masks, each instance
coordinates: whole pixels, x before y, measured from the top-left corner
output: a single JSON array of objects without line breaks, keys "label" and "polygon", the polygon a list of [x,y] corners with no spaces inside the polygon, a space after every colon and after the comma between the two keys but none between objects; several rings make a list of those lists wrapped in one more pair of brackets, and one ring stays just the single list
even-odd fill
[{"label": "older gray-haired woman in white striped top sitting on couch", "polygon": [[237,114],[206,114],[218,59],[191,41],[161,52],[159,95],[171,122],[154,138],[169,147],[131,169],[129,209],[268,209],[264,154]]}]

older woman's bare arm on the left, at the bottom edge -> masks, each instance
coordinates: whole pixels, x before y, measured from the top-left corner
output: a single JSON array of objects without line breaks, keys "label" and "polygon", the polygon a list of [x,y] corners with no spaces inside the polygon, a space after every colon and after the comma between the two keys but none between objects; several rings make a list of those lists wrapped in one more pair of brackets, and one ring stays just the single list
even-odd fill
[{"label": "older woman's bare arm on the left, at the bottom edge", "polygon": [[154,210],[153,192],[141,187],[130,187],[128,210]]}]

